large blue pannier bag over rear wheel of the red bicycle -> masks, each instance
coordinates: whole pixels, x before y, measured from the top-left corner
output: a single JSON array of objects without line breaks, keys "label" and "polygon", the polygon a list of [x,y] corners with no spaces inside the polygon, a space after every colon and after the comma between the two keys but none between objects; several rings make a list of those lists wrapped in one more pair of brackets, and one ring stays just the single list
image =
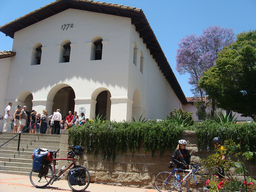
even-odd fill
[{"label": "large blue pannier bag over rear wheel of the red bicycle", "polygon": [[41,149],[35,149],[33,151],[33,172],[42,173],[44,167],[47,165],[46,155],[48,151],[41,151]]}]

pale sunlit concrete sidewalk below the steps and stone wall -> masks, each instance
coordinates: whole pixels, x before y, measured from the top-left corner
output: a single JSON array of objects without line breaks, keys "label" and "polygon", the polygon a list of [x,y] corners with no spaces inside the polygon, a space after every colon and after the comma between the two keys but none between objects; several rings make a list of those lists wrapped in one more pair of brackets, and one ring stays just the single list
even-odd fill
[{"label": "pale sunlit concrete sidewalk below the steps and stone wall", "polygon": [[[47,186],[45,188],[35,188],[30,180],[29,176],[23,176],[23,175],[11,175],[11,174],[3,174],[0,173],[0,191],[17,191],[17,192],[28,192],[28,191],[41,191],[41,192],[47,192],[47,191],[72,191],[68,185],[67,180],[60,180],[53,183],[53,185],[50,184],[50,187]],[[95,184],[90,183],[88,188],[85,190],[85,192],[157,192],[155,189],[143,189],[143,188],[131,188],[131,187],[119,187],[119,186],[110,186],[110,185],[104,185],[104,184]]]}]

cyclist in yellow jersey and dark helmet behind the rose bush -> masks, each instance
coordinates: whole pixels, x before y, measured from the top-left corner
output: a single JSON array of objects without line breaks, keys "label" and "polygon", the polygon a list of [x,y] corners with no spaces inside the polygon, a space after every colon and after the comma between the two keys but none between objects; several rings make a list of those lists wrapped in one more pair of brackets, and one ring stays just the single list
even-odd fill
[{"label": "cyclist in yellow jersey and dark helmet behind the rose bush", "polygon": [[[226,156],[224,154],[224,147],[221,145],[221,137],[215,137],[212,140],[213,146],[217,149],[216,153],[219,154],[219,158],[225,163]],[[225,179],[225,173],[224,169],[221,167],[218,167],[217,175],[219,177],[220,181],[223,181]]]}]

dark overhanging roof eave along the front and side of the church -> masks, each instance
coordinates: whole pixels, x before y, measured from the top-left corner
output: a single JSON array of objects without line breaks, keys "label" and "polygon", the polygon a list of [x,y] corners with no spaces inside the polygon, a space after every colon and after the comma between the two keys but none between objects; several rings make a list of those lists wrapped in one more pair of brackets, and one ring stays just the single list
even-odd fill
[{"label": "dark overhanging roof eave along the front and side of the church", "polygon": [[131,24],[135,25],[136,31],[140,33],[140,38],[143,38],[143,43],[145,43],[146,47],[150,50],[150,54],[153,56],[153,59],[156,60],[158,67],[160,67],[161,72],[171,85],[173,91],[182,104],[187,103],[181,86],[156,39],[154,31],[151,29],[141,9],[91,0],[57,0],[1,26],[0,31],[6,36],[14,38],[16,31],[67,9],[77,9],[131,18]]}]

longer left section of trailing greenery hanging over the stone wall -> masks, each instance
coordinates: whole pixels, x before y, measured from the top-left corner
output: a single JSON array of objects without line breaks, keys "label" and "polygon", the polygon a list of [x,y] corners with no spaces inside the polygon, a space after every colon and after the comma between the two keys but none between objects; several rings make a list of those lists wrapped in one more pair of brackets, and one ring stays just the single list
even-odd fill
[{"label": "longer left section of trailing greenery hanging over the stone wall", "polygon": [[73,145],[81,145],[87,154],[98,156],[102,152],[103,159],[115,160],[116,153],[125,153],[127,150],[134,155],[140,145],[144,145],[145,152],[151,151],[152,157],[156,150],[162,155],[165,150],[173,150],[181,139],[183,127],[176,126],[168,121],[157,123],[116,122],[105,121],[103,124],[86,123],[83,126],[69,129],[69,138]]}]

